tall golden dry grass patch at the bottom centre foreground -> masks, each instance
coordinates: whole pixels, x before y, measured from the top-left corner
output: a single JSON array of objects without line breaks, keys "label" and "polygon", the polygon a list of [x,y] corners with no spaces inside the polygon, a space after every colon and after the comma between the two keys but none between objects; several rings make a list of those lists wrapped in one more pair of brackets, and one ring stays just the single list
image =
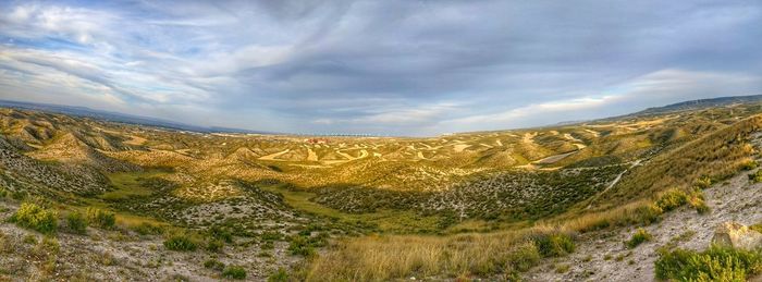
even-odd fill
[{"label": "tall golden dry grass patch at the bottom centre foreground", "polygon": [[331,246],[305,270],[308,281],[382,281],[409,277],[509,275],[537,263],[531,237],[564,233],[550,226],[452,236],[367,236]]}]

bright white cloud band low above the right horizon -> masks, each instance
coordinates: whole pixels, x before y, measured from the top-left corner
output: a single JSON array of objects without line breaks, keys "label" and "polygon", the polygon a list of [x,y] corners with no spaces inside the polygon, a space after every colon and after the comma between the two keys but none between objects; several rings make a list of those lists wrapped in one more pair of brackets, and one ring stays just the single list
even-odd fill
[{"label": "bright white cloud band low above the right horizon", "polygon": [[755,94],[762,94],[762,77],[757,75],[668,69],[623,82],[598,95],[452,119],[440,125],[454,131],[515,128],[606,118],[685,100]]}]

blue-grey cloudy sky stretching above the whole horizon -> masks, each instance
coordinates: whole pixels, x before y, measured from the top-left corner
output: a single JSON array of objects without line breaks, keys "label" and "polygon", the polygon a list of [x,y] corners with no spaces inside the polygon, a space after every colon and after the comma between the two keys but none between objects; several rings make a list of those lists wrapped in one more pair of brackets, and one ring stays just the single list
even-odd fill
[{"label": "blue-grey cloudy sky stretching above the whole horizon", "polygon": [[0,99],[431,136],[762,94],[762,1],[5,1]]}]

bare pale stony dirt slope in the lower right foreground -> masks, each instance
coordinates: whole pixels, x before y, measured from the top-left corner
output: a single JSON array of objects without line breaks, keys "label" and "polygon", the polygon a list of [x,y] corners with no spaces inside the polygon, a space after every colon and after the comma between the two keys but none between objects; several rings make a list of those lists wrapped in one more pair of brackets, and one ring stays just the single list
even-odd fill
[{"label": "bare pale stony dirt slope in the lower right foreground", "polygon": [[[750,225],[762,221],[762,183],[751,184],[748,173],[740,173],[729,181],[704,191],[708,214],[698,214],[683,207],[664,216],[660,223],[646,226],[653,235],[635,249],[627,249],[624,241],[635,233],[634,228],[592,232],[581,235],[577,250],[561,258],[556,265],[568,265],[565,273],[556,273],[553,261],[545,261],[525,275],[527,281],[654,281],[654,261],[660,246],[684,235],[689,240],[677,241],[680,248],[701,250],[709,246],[714,229],[727,221]],[[691,235],[692,234],[692,235]],[[605,259],[609,255],[610,259]],[[624,258],[617,261],[617,257]],[[589,260],[589,261],[588,261]],[[630,262],[632,261],[632,262]],[[587,274],[586,274],[587,273]]]}]

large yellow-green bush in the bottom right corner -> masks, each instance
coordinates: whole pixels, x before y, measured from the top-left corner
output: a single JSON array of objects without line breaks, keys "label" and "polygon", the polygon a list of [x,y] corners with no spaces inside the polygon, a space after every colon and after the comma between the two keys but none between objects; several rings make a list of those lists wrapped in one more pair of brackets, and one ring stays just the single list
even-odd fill
[{"label": "large yellow-green bush in the bottom right corner", "polygon": [[654,263],[656,278],[662,280],[746,281],[747,277],[762,272],[760,252],[718,246],[701,253],[663,250]]}]

